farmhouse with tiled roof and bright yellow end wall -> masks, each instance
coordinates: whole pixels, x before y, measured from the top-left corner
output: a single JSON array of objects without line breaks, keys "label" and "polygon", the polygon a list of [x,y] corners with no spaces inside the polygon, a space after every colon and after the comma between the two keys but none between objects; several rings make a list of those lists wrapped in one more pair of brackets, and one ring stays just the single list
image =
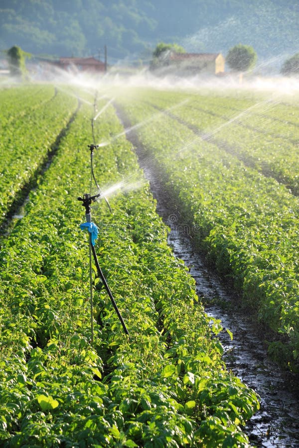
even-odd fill
[{"label": "farmhouse with tiled roof and bright yellow end wall", "polygon": [[225,59],[221,53],[175,53],[173,51],[163,55],[161,64],[167,73],[180,76],[220,75],[224,73],[224,65]]}]

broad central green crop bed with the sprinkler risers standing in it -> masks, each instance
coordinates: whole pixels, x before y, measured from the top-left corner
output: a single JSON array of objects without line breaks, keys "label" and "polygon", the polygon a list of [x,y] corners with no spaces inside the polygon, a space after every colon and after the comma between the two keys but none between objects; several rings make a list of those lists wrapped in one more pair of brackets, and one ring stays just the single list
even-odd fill
[{"label": "broad central green crop bed with the sprinkler risers standing in it", "polygon": [[[103,199],[94,203],[92,218],[130,337],[93,266],[91,343],[88,236],[77,201],[90,190],[91,113],[82,103],[24,218],[1,240],[1,445],[248,447],[241,428],[257,396],[221,359],[220,322],[206,316],[167,246],[132,145],[111,140],[122,132],[112,106],[96,121],[96,141],[111,143],[96,150],[94,171],[103,195],[111,183],[127,188],[108,197],[112,213]],[[136,181],[143,186],[131,190]]]}]

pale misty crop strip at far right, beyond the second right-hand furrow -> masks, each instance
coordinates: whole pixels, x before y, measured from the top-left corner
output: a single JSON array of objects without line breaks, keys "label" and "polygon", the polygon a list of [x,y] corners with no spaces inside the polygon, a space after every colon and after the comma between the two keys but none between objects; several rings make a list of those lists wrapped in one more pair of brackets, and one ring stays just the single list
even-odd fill
[{"label": "pale misty crop strip at far right, beyond the second right-hand furrow", "polygon": [[[232,152],[245,163],[274,177],[298,196],[298,108],[280,105],[269,99],[241,102],[244,109],[232,108],[237,100],[214,96],[151,94],[145,101],[161,110],[170,105],[178,119],[183,119],[202,138],[213,139],[218,146]],[[161,98],[160,98],[161,97]],[[187,100],[180,103],[183,99]],[[289,109],[289,115],[286,112]],[[268,115],[272,112],[272,115]],[[288,120],[289,118],[293,121]]]}]

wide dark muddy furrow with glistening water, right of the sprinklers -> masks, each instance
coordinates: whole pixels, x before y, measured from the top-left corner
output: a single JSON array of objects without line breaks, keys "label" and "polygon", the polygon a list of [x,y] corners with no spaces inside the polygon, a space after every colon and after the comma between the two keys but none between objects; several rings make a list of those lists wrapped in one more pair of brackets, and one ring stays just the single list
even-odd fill
[{"label": "wide dark muddy furrow with glistening water, right of the sprinklers", "polygon": [[[185,229],[175,223],[176,216],[169,211],[152,172],[143,168],[157,200],[157,212],[171,229],[168,243],[174,255],[189,268],[208,316],[221,320],[224,330],[218,337],[224,348],[227,368],[260,396],[261,408],[245,428],[251,444],[257,447],[299,447],[298,397],[288,389],[283,372],[267,357],[266,348],[255,334],[249,317],[235,309],[228,289],[207,268],[204,258],[194,252],[190,239],[183,234]],[[233,340],[226,328],[233,333]]]}]

